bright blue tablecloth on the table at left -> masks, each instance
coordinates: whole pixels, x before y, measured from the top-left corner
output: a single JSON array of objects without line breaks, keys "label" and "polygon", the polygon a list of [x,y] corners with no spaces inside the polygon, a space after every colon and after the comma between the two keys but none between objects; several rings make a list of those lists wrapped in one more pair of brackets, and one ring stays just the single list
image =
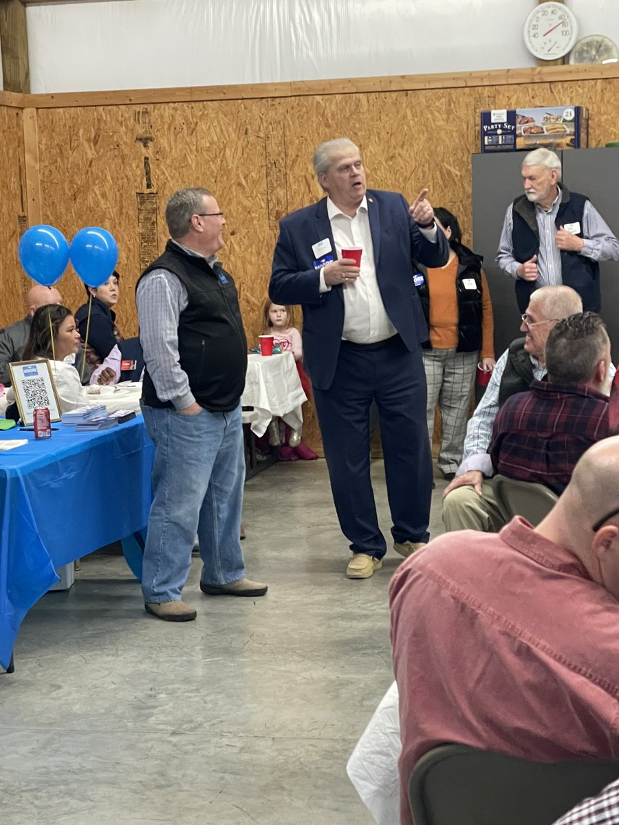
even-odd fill
[{"label": "bright blue tablecloth on the table at left", "polygon": [[58,580],[55,568],[143,530],[149,517],[154,446],[141,416],[110,430],[54,424],[50,439],[16,428],[0,440],[0,664],[21,622]]}]

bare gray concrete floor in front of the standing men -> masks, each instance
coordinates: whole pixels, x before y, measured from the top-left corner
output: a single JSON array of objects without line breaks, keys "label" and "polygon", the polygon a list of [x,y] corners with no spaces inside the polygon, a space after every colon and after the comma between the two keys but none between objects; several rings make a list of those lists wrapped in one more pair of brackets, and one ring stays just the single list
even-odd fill
[{"label": "bare gray concrete floor in front of the standing men", "polygon": [[[372,473],[386,533],[380,461]],[[345,767],[392,681],[387,587],[401,559],[390,550],[371,579],[344,577],[323,460],[276,464],[245,502],[264,598],[203,596],[195,559],[184,598],[198,618],[165,624],[124,560],[95,554],[31,610],[17,670],[0,676],[3,825],[370,825]]]}]

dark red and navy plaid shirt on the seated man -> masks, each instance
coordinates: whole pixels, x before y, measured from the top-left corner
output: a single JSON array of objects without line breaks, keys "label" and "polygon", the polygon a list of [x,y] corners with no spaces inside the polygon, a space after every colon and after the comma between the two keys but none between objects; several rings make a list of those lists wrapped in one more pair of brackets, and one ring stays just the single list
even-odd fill
[{"label": "dark red and navy plaid shirt on the seated man", "polygon": [[584,451],[607,435],[606,395],[533,380],[494,419],[490,458],[495,472],[546,484],[559,494]]}]

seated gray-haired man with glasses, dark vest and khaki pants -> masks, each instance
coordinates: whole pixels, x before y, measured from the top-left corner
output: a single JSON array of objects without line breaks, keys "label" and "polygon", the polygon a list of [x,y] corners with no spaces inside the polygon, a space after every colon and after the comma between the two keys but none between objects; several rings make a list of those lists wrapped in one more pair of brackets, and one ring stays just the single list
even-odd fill
[{"label": "seated gray-haired man with glasses, dark vest and khaki pants", "polygon": [[[542,286],[529,300],[522,315],[524,337],[513,341],[497,361],[484,397],[466,427],[462,463],[443,493],[442,521],[446,530],[495,530],[496,507],[491,484],[494,475],[489,455],[494,419],[510,396],[525,392],[533,379],[546,378],[544,347],[557,321],[581,313],[579,295],[569,286]],[[614,370],[612,370],[614,375]]]}]

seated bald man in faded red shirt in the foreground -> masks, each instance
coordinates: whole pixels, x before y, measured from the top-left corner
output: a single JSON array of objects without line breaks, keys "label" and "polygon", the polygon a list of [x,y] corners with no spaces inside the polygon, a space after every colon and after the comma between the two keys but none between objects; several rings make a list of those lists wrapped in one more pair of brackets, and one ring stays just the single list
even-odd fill
[{"label": "seated bald man in faded red shirt in the foreground", "polygon": [[442,742],[619,758],[618,490],[615,436],[584,453],[537,527],[516,516],[498,535],[447,533],[396,570],[403,825],[413,766]]}]

